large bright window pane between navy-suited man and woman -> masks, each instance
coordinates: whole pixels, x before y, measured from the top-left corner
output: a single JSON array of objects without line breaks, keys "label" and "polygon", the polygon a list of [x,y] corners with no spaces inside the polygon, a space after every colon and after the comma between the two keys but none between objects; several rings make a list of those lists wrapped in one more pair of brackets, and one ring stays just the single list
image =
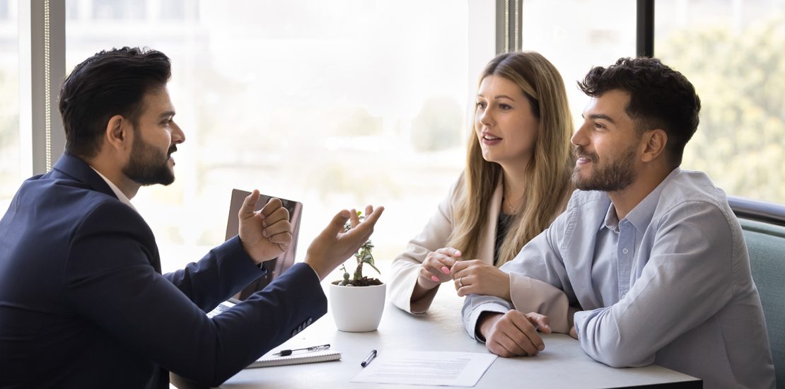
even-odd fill
[{"label": "large bright window pane between navy-suited man and woman", "polygon": [[[129,3],[93,0],[93,9]],[[159,11],[116,28],[83,18],[66,26],[69,71],[112,46],[172,59],[170,94],[186,135],[177,180],[133,199],[164,267],[223,239],[232,188],[304,204],[298,259],[337,211],[366,204],[387,208],[376,258],[403,251],[463,167],[466,3],[168,3],[148,1]]]}]

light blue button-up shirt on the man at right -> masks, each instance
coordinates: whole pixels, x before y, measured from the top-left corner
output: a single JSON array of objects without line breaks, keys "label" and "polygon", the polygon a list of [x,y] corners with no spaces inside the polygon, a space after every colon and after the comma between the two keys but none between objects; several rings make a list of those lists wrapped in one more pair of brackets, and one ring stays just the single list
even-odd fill
[{"label": "light blue button-up shirt on the man at right", "polygon": [[[622,220],[607,193],[577,190],[564,214],[501,269],[514,280],[515,302],[542,295],[533,288],[545,285],[579,306],[575,330],[597,361],[656,363],[705,387],[775,387],[747,245],[706,174],[675,169]],[[527,277],[539,281],[519,282]],[[556,305],[542,304],[540,313],[568,315],[566,303]],[[504,299],[469,295],[466,330],[475,336],[484,311],[510,309]]]}]

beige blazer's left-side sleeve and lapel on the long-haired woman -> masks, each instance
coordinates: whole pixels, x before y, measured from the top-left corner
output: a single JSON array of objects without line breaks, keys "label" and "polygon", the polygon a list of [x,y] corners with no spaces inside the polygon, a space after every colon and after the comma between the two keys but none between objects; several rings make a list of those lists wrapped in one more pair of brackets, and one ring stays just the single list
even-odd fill
[{"label": "beige blazer's left-side sleeve and lapel on the long-haired woman", "polygon": [[[439,204],[439,209],[431,216],[425,228],[412,240],[406,251],[398,255],[392,262],[392,279],[389,281],[389,299],[400,309],[411,314],[422,314],[433,302],[439,287],[433,288],[422,299],[411,306],[411,293],[417,284],[420,265],[425,261],[425,256],[431,251],[436,251],[447,246],[453,229],[455,229],[455,207],[461,198],[466,186],[463,175],[450,188],[450,192]],[[485,222],[485,234],[479,242],[476,259],[493,264],[493,251],[496,241],[496,224],[498,213],[502,208],[502,185],[496,187],[491,203],[488,204],[488,219]],[[470,258],[475,259],[475,258]]]}]

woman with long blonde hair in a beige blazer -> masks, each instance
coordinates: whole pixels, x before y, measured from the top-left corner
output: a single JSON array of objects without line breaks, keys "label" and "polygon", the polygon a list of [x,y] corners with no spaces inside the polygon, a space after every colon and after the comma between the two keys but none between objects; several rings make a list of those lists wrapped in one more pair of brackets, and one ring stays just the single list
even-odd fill
[{"label": "woman with long blonde hair in a beige blazer", "polygon": [[466,169],[392,262],[392,303],[422,314],[443,282],[509,299],[498,270],[546,229],[571,193],[571,113],[561,75],[539,53],[500,54],[480,76]]}]

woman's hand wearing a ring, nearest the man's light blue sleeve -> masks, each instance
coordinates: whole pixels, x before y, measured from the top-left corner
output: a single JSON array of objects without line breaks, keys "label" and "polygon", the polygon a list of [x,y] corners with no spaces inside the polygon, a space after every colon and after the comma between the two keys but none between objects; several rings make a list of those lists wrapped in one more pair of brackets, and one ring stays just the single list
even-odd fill
[{"label": "woman's hand wearing a ring, nearest the man's light blue sleeve", "polygon": [[452,266],[458,295],[495,295],[509,301],[509,274],[479,259],[458,261]]}]

